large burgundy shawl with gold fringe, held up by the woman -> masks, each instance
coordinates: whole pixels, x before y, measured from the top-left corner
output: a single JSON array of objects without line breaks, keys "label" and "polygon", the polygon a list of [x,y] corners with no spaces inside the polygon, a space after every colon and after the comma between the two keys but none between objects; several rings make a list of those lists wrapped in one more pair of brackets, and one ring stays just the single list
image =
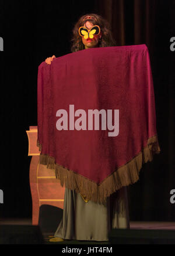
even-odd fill
[{"label": "large burgundy shawl with gold fringe, held up by the woman", "polygon": [[[62,186],[89,200],[106,201],[122,186],[135,183],[143,163],[160,152],[146,45],[99,47],[55,58],[51,65],[43,62],[38,67],[37,97],[40,163],[55,170]],[[84,111],[86,124],[78,111],[76,116],[69,112],[69,105],[74,105],[74,112]],[[58,110],[68,113],[68,123],[61,123],[67,129],[57,128],[62,117]],[[106,112],[106,129],[102,121],[99,129],[89,129],[89,110]],[[109,136],[114,130],[107,127],[108,110],[113,125],[114,110],[119,110],[115,136]],[[75,123],[83,123],[83,129],[75,129]]]}]

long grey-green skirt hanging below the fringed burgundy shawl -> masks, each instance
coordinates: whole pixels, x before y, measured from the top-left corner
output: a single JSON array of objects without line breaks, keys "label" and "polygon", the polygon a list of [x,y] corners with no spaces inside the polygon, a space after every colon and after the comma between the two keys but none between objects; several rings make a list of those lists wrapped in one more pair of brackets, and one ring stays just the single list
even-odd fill
[{"label": "long grey-green skirt hanging below the fringed burgundy shawl", "polygon": [[108,241],[111,228],[129,228],[127,187],[107,197],[106,203],[87,203],[65,188],[64,210],[54,236],[68,240]]}]

